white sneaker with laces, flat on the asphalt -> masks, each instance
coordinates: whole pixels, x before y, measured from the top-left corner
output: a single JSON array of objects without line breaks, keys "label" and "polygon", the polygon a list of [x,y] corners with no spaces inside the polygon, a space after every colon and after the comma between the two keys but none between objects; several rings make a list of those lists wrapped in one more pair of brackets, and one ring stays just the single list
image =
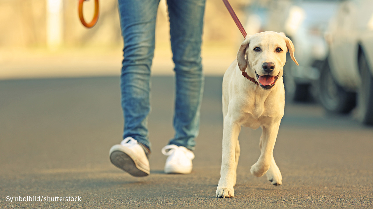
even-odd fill
[{"label": "white sneaker with laces, flat on the asphalt", "polygon": [[162,153],[168,156],[164,165],[164,173],[188,174],[192,172],[194,154],[189,149],[169,144],[162,148]]}]

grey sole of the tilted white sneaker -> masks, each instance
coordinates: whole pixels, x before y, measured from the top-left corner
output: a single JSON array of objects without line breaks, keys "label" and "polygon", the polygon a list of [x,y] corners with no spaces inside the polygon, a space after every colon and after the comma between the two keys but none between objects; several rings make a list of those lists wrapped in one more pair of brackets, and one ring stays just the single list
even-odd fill
[{"label": "grey sole of the tilted white sneaker", "polygon": [[124,152],[124,150],[113,150],[116,148],[126,149],[122,146],[116,147],[116,145],[112,147],[112,150],[110,150],[110,161],[112,164],[135,177],[144,177],[150,174],[149,170],[140,166],[140,162],[133,160],[133,158],[130,156],[132,155],[130,150],[125,150],[128,153],[127,154]]}]

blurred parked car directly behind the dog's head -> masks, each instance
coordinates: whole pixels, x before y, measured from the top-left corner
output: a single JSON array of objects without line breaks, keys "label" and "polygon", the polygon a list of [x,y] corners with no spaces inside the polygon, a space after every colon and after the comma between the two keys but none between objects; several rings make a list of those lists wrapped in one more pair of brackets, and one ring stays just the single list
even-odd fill
[{"label": "blurred parked car directly behind the dog's head", "polygon": [[338,0],[258,0],[249,7],[248,33],[285,32],[294,44],[299,66],[291,62],[284,66],[286,97],[295,101],[316,97],[311,87],[319,80],[319,65],[328,54],[324,33],[338,4]]}]

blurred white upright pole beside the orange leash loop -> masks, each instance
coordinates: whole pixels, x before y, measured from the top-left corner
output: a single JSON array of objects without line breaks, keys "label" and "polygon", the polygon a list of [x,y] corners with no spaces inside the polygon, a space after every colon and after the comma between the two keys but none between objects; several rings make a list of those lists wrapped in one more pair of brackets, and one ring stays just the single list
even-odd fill
[{"label": "blurred white upright pole beside the orange leash loop", "polygon": [[62,0],[47,1],[47,46],[56,51],[62,42]]}]

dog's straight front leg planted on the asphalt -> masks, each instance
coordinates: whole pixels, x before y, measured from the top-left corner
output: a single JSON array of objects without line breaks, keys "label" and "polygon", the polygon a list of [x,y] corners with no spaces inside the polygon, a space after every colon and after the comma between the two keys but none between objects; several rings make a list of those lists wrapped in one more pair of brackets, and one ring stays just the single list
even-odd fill
[{"label": "dog's straight front leg planted on the asphalt", "polygon": [[224,119],[223,155],[220,180],[216,189],[217,197],[233,197],[233,183],[236,172],[235,148],[241,125],[233,122],[229,116]]}]

